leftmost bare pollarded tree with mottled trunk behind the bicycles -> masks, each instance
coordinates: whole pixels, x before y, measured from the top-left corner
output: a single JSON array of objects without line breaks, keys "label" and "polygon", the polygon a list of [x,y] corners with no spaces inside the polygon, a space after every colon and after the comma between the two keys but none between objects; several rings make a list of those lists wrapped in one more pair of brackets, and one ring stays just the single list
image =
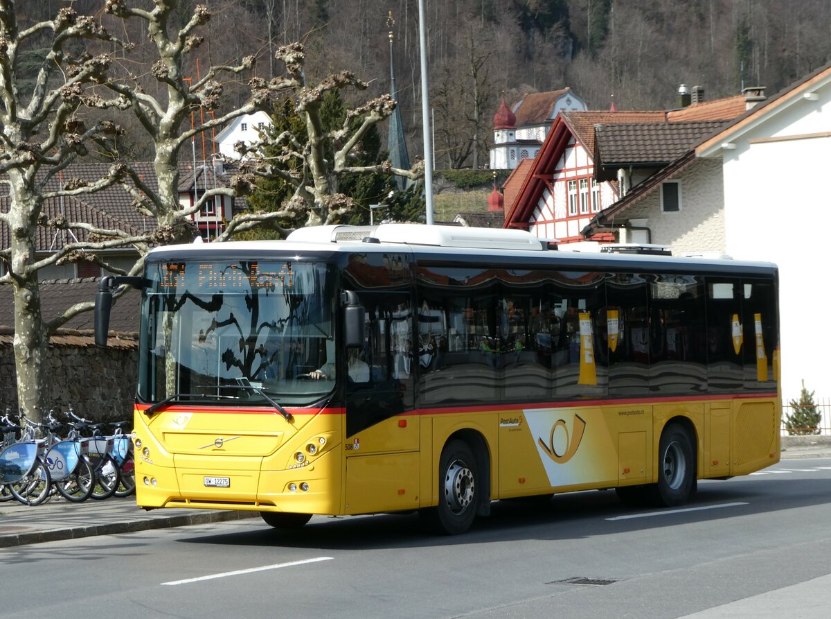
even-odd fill
[{"label": "leftmost bare pollarded tree with mottled trunk behind the bicycles", "polygon": [[[48,41],[42,62],[31,87],[24,91],[17,79],[20,55],[36,39]],[[0,212],[0,222],[10,231],[10,245],[0,251],[7,273],[0,283],[11,283],[14,296],[14,354],[17,369],[17,399],[32,418],[47,409],[43,400],[47,375],[45,361],[49,335],[74,315],[74,310],[47,323],[41,313],[37,272],[44,266],[68,260],[81,249],[106,249],[130,243],[132,239],[117,230],[99,230],[109,240],[71,243],[46,258],[39,259],[37,227],[66,228],[66,220],[47,221],[44,202],[52,198],[79,196],[97,191],[120,180],[124,167],[114,165],[109,175],[91,184],[69,181],[57,191],[47,191],[51,181],[77,156],[86,154],[86,144],[118,128],[110,122],[86,127],[83,107],[125,106],[121,97],[104,100],[86,87],[105,80],[110,57],[73,56],[73,43],[81,40],[116,43],[92,17],[79,16],[71,8],[61,8],[52,20],[21,27],[13,0],[0,0],[0,174],[8,187],[9,209]]]}]

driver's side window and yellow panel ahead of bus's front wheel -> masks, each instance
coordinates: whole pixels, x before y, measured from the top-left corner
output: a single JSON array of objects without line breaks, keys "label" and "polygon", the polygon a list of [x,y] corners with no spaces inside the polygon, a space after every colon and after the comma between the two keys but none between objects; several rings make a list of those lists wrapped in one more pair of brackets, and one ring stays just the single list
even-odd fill
[{"label": "driver's side window and yellow panel ahead of bus's front wheel", "polygon": [[410,296],[359,296],[366,310],[366,341],[347,356],[357,354],[368,372],[358,376],[353,369],[347,381],[346,513],[414,509],[420,440],[419,418],[410,414],[415,371]]}]

